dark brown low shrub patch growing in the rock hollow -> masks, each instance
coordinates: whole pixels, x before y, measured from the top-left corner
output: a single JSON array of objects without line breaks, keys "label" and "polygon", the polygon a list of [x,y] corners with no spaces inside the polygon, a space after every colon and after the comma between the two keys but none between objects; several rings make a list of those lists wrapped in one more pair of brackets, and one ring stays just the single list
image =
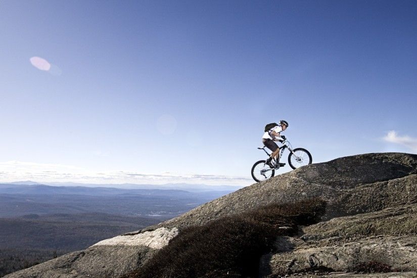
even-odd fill
[{"label": "dark brown low shrub patch growing in the rock hollow", "polygon": [[260,256],[270,251],[276,236],[294,235],[298,225],[316,223],[325,205],[319,199],[272,204],[186,227],[127,277],[257,276]]}]

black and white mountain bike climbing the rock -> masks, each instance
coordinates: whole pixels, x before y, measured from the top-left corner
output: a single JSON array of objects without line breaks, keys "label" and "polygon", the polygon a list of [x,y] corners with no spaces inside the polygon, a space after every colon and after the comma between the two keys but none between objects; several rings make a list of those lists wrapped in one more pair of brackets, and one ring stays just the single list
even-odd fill
[{"label": "black and white mountain bike climbing the rock", "polygon": [[[282,142],[283,146],[280,147],[280,158],[283,157],[283,153],[285,149],[288,149],[290,151],[290,154],[288,155],[288,164],[291,168],[297,169],[301,166],[311,164],[313,159],[311,158],[311,154],[309,151],[303,148],[297,148],[293,149],[290,142],[286,139]],[[258,148],[259,150],[263,150],[266,155],[269,157],[271,154],[269,154],[265,150],[266,146],[263,148]],[[270,177],[273,177],[275,174],[275,170],[280,169],[280,162],[275,161],[275,159],[272,159],[272,166],[271,168],[268,164],[266,164],[266,160],[259,160],[255,162],[252,166],[252,177],[255,181],[263,181]]]}]

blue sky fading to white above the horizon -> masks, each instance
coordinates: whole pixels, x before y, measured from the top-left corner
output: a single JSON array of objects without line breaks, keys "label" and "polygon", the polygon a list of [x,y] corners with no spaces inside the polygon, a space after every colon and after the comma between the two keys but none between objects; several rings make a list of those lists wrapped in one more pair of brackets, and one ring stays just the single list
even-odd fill
[{"label": "blue sky fading to white above the horizon", "polygon": [[416,1],[2,0],[0,38],[0,181],[248,185],[280,119],[417,153]]}]

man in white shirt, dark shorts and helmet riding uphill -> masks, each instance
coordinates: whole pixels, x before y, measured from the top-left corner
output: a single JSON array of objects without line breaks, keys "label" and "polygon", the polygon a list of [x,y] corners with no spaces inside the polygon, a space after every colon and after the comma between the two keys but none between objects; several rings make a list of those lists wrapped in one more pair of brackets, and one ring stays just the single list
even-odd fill
[{"label": "man in white shirt, dark shorts and helmet riding uphill", "polygon": [[[266,164],[268,164],[268,166],[271,168],[274,168],[274,166],[271,163],[273,158],[275,158],[276,162],[280,161],[280,148],[278,148],[278,145],[276,145],[274,141],[284,142],[285,136],[281,135],[280,133],[286,130],[287,127],[288,122],[285,120],[281,120],[279,125],[276,125],[271,129],[265,131],[265,133],[262,136],[263,145],[272,151],[271,155],[266,160]],[[279,165],[280,167],[282,167],[285,165],[285,163],[280,163]]]}]

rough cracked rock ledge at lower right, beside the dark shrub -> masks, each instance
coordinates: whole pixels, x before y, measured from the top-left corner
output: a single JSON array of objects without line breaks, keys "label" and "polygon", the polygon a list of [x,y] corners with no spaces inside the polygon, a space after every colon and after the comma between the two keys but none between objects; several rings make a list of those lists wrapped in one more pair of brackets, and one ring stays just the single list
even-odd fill
[{"label": "rough cracked rock ledge at lower right, beside the dark shrub", "polygon": [[280,237],[261,259],[261,273],[276,277],[315,269],[351,271],[379,262],[396,271],[417,269],[417,204],[334,218],[303,228],[299,238]]}]

